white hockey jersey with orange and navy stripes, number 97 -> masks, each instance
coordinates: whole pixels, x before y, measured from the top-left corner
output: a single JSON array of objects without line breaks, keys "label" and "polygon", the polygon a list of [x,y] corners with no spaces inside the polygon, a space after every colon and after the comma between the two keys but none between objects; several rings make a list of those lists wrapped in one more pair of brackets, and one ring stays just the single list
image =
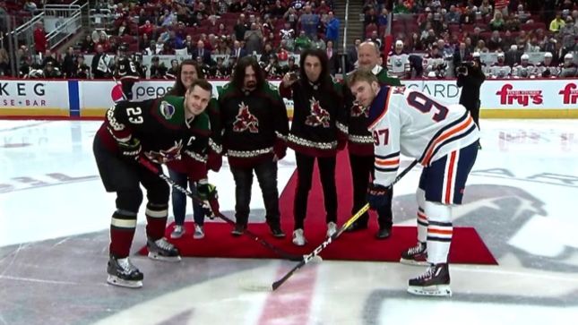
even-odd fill
[{"label": "white hockey jersey with orange and navy stripes, number 97", "polygon": [[427,167],[479,140],[478,127],[459,104],[445,105],[418,91],[384,86],[369,108],[375,150],[375,184],[389,186],[400,155]]}]

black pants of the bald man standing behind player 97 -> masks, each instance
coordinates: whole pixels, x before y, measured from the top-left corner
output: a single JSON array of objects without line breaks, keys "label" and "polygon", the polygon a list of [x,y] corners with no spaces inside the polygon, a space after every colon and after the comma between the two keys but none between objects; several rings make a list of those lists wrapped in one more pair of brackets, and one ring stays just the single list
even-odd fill
[{"label": "black pants of the bald man standing behind player 97", "polygon": [[[349,154],[349,165],[351,165],[351,177],[353,178],[353,209],[351,215],[358,212],[367,203],[367,187],[369,178],[374,178],[374,156],[357,156]],[[377,223],[380,228],[392,227],[393,212],[392,198],[393,189],[389,192],[389,203],[383,209],[377,210]],[[369,214],[367,212],[356,221],[359,225],[367,225]]]}]

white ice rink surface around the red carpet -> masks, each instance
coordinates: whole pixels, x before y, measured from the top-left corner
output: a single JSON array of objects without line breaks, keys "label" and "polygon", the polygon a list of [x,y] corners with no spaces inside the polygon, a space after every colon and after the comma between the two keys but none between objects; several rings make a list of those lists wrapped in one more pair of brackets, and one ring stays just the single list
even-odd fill
[{"label": "white ice rink surface around the red carpet", "polygon": [[[265,293],[239,282],[272,282],[295,262],[134,256],[144,287],[109,286],[115,196],[104,192],[92,156],[99,123],[0,121],[0,324],[574,324],[578,121],[481,126],[483,150],[454,225],[476,227],[499,265],[452,265],[453,297],[426,298],[406,293],[423,268],[383,262],[307,264]],[[289,153],[280,190],[294,169]],[[415,225],[418,176],[416,167],[396,185],[396,225]],[[226,164],[211,183],[232,215]],[[252,209],[263,221],[256,182]],[[141,213],[134,251],[144,244],[143,221]]]}]

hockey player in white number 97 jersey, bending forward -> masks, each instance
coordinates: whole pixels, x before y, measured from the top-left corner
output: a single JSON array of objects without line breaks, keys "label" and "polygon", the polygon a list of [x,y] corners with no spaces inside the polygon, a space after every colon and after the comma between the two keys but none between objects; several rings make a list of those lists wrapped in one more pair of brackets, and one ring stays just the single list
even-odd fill
[{"label": "hockey player in white number 97 jersey, bending forward", "polygon": [[387,203],[386,195],[400,167],[400,155],[423,166],[417,191],[418,244],[401,262],[429,265],[411,278],[414,295],[451,295],[447,264],[452,242],[452,207],[462,203],[471,167],[478,154],[479,131],[462,105],[444,105],[422,92],[380,87],[370,72],[349,77],[360,105],[369,107],[368,129],[375,144],[375,179],[367,190],[372,209]]}]

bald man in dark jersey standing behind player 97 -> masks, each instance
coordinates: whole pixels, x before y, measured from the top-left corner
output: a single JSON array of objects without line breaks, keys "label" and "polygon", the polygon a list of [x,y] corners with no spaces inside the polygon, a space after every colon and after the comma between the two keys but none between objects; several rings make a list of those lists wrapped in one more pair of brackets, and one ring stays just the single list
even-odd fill
[{"label": "bald man in dark jersey standing behind player 97", "polygon": [[[387,71],[382,66],[382,57],[379,47],[374,42],[366,41],[359,45],[358,48],[358,68],[370,70],[375,74],[377,80],[382,86],[401,86],[397,78],[387,75]],[[346,107],[349,107],[349,164],[351,165],[351,178],[353,181],[353,209],[355,214],[367,202],[367,186],[369,177],[374,178],[374,138],[367,131],[369,111],[367,107],[361,107],[355,101],[349,87],[344,87]],[[388,238],[392,233],[393,213],[392,200],[393,191],[389,192],[389,204],[377,210],[377,223],[379,230],[375,234],[376,239]],[[369,215],[367,212],[348,228],[349,232],[367,229]]]}]

